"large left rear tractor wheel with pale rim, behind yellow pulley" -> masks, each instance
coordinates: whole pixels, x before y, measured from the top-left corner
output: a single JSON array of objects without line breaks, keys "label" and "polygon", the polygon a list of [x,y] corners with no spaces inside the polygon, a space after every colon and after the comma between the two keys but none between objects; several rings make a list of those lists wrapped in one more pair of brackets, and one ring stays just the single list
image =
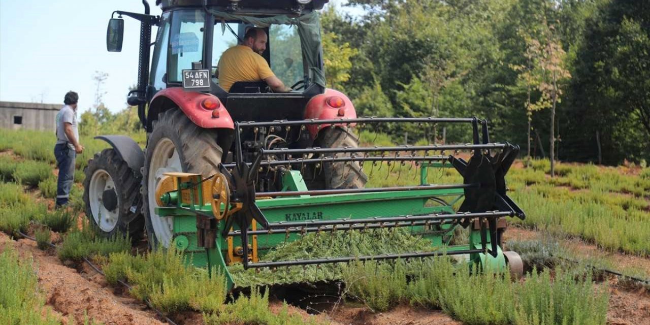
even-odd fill
[{"label": "large left rear tractor wheel with pale rim, behind yellow pulley", "polygon": [[144,157],[144,220],[150,248],[169,247],[174,237],[174,217],[155,213],[155,190],[163,172],[198,173],[203,177],[218,170],[223,150],[216,144],[216,130],[198,127],[179,109],[162,112],[153,121]]}]

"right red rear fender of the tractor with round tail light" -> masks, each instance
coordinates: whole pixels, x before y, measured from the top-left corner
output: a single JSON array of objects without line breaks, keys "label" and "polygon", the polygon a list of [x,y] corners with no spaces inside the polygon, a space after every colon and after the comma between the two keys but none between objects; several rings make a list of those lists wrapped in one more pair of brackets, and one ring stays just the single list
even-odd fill
[{"label": "right red rear fender of the tractor with round tail light", "polygon": [[[342,104],[342,105],[341,105]],[[338,106],[338,107],[337,107]],[[357,112],[354,110],[352,101],[342,92],[327,88],[324,94],[314,96],[309,99],[305,109],[305,120],[316,118],[318,120],[330,120],[333,118],[356,118]],[[307,125],[311,138],[316,138],[320,129],[328,127],[331,124]],[[338,125],[338,124],[336,124]],[[341,124],[344,125],[344,124]],[[354,126],[354,125],[352,125]]]}]

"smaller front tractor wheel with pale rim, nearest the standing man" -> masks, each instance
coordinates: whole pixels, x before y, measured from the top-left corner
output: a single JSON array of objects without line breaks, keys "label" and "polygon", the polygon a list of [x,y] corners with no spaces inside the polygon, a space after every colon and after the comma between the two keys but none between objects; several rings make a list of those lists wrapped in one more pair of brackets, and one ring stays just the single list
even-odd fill
[{"label": "smaller front tractor wheel with pale rim, nearest the standing man", "polygon": [[96,153],[84,172],[83,200],[90,225],[106,238],[129,235],[131,240],[141,239],[144,218],[136,196],[142,177],[112,148]]}]

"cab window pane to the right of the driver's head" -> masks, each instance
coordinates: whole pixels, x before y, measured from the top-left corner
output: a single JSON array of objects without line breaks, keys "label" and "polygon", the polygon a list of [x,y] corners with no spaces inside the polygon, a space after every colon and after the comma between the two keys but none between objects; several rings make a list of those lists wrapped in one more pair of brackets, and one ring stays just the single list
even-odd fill
[{"label": "cab window pane to the right of the driver's head", "polygon": [[271,70],[286,85],[304,79],[302,49],[298,27],[294,25],[271,25],[268,32]]}]

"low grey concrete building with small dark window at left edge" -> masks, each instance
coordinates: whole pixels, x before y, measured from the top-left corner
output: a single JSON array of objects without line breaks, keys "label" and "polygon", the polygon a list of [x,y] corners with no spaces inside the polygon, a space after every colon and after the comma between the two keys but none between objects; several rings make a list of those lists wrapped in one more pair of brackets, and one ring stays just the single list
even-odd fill
[{"label": "low grey concrete building with small dark window at left edge", "polygon": [[55,131],[57,113],[63,104],[0,101],[0,127]]}]

